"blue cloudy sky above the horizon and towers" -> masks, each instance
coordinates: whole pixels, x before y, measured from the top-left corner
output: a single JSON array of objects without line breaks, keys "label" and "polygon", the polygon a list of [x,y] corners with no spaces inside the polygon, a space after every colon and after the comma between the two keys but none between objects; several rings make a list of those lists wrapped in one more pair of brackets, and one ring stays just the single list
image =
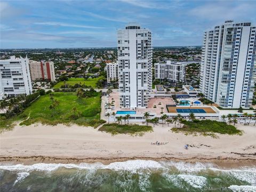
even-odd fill
[{"label": "blue cloudy sky above the horizon and towers", "polygon": [[256,1],[3,1],[0,48],[116,47],[129,22],[149,28],[153,46],[202,45],[226,20],[256,25]]}]

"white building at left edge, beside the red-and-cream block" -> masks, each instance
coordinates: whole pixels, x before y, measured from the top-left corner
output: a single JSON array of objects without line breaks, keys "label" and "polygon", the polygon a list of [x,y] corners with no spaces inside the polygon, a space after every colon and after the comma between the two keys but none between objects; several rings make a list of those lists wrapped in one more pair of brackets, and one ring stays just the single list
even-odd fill
[{"label": "white building at left edge, beside the red-and-cream block", "polygon": [[0,60],[0,99],[31,94],[32,84],[28,58]]}]

